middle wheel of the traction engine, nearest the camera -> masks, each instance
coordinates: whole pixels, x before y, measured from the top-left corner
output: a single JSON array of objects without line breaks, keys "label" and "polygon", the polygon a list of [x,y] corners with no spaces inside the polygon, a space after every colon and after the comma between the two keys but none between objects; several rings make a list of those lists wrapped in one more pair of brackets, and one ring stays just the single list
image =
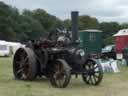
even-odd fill
[{"label": "middle wheel of the traction engine, nearest the camera", "polygon": [[71,72],[68,64],[64,60],[56,60],[54,62],[53,73],[50,76],[50,82],[54,87],[65,88],[70,82]]}]

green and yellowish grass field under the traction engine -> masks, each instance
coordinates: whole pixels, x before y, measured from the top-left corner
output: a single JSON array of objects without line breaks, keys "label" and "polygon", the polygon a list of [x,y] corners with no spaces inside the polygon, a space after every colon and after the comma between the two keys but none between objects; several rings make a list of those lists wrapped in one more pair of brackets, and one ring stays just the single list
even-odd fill
[{"label": "green and yellowish grass field under the traction engine", "polygon": [[104,74],[99,86],[89,86],[82,79],[72,77],[67,88],[53,88],[48,80],[16,81],[12,73],[12,59],[0,58],[0,96],[128,96],[128,68],[118,74]]}]

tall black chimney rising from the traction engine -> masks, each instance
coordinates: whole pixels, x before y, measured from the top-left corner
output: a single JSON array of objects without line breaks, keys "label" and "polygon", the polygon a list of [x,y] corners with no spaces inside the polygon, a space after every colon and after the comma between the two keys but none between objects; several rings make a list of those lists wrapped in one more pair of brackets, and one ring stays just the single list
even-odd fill
[{"label": "tall black chimney rising from the traction engine", "polygon": [[72,18],[72,41],[75,43],[78,40],[78,11],[71,12]]}]

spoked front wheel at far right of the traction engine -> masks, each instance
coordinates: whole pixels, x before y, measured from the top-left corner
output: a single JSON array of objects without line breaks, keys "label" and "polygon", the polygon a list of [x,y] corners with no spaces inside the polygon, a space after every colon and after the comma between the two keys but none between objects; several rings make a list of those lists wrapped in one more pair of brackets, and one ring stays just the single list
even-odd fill
[{"label": "spoked front wheel at far right of the traction engine", "polygon": [[103,70],[99,63],[88,59],[83,65],[87,73],[82,74],[83,81],[89,85],[99,85],[103,78]]}]

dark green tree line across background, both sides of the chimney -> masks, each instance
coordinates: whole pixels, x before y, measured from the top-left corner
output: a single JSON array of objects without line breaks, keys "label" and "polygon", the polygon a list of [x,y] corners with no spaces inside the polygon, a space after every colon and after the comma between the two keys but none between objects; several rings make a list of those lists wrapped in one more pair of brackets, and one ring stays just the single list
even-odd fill
[{"label": "dark green tree line across background, both sides of the chimney", "polygon": [[[104,45],[114,42],[113,34],[128,28],[128,23],[99,22],[97,18],[78,17],[79,30],[99,29],[103,31]],[[71,20],[61,20],[43,9],[19,11],[16,7],[0,1],[0,40],[25,42],[45,37],[56,29],[71,30]]]}]

